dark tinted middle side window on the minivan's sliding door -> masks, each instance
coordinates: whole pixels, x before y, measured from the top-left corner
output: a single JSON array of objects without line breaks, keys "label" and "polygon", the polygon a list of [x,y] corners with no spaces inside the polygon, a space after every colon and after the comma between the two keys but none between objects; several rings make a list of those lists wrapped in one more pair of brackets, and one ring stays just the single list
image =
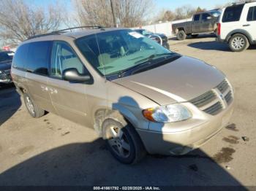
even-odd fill
[{"label": "dark tinted middle side window on the minivan's sliding door", "polygon": [[29,44],[29,52],[26,70],[35,74],[48,75],[50,63],[50,47],[52,42],[32,42]]}]

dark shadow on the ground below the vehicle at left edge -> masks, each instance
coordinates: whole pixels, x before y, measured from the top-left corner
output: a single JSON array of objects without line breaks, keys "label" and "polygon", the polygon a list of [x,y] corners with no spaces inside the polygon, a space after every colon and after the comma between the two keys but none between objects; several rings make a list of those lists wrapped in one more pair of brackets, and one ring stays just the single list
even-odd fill
[{"label": "dark shadow on the ground below the vehicle at left edge", "polygon": [[20,108],[20,95],[13,85],[0,87],[0,126]]}]

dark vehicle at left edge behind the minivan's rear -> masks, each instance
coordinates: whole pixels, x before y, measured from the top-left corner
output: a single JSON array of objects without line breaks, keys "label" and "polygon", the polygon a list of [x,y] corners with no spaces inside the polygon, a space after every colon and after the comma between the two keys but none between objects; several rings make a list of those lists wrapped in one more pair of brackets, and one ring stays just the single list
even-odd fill
[{"label": "dark vehicle at left edge behind the minivan's rear", "polygon": [[10,75],[14,52],[0,50],[0,85],[12,82]]}]

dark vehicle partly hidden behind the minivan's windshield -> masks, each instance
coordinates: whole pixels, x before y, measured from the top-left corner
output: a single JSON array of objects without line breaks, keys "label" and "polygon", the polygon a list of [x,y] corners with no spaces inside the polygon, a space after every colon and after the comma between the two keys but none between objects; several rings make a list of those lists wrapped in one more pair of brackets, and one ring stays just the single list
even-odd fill
[{"label": "dark vehicle partly hidden behind the minivan's windshield", "polygon": [[165,34],[152,33],[151,31],[147,31],[146,29],[135,29],[135,31],[139,34],[142,34],[143,36],[147,36],[148,38],[156,41],[167,49],[170,48],[168,44],[168,38]]}]

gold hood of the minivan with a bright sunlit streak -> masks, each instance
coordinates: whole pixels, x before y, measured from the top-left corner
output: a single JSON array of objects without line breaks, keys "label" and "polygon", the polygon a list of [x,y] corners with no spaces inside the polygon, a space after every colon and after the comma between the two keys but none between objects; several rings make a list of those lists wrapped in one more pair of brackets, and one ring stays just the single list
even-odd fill
[{"label": "gold hood of the minivan with a bright sunlit streak", "polygon": [[219,85],[225,75],[195,58],[176,61],[112,82],[134,90],[160,105],[189,101]]}]

